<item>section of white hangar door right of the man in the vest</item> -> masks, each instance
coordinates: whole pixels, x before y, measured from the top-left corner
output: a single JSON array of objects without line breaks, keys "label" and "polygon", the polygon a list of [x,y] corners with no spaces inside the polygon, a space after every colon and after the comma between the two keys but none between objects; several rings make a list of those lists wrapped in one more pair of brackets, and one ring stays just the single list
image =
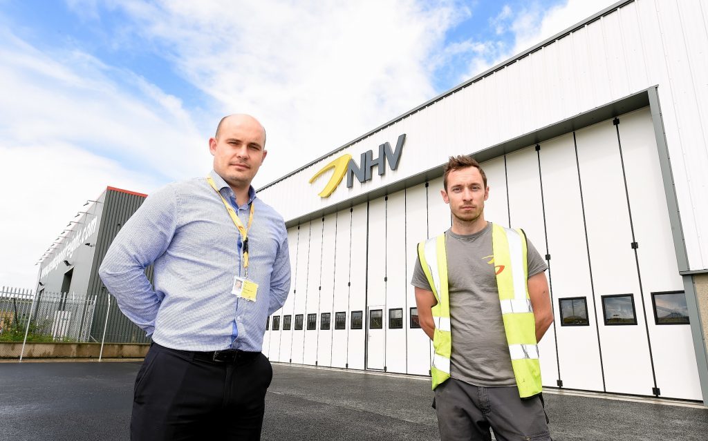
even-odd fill
[{"label": "section of white hangar door right of the man in the vest", "polygon": [[649,107],[483,166],[549,264],[544,385],[702,399]]}]

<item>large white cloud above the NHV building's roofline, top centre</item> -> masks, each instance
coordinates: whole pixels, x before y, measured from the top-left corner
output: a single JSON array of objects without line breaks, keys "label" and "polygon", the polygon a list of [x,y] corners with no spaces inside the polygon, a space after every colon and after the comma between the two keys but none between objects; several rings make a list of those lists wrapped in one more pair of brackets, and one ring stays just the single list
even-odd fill
[{"label": "large white cloud above the NHV building's roofline, top centre", "polygon": [[268,130],[256,187],[432,98],[449,2],[120,2],[185,78]]}]

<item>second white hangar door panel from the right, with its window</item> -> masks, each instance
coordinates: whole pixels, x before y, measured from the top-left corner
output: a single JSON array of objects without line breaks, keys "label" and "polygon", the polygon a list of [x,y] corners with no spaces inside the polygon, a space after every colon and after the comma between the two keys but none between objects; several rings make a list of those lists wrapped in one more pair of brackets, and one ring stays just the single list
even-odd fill
[{"label": "second white hangar door panel from the right, with its window", "polygon": [[[632,230],[617,133],[608,120],[576,131],[576,141],[598,314],[603,317],[603,296],[619,294],[632,295],[636,312],[636,325],[607,326],[600,320],[605,387],[607,392],[647,394],[653,383],[651,358],[630,247]],[[631,376],[628,365],[634,367]]]}]

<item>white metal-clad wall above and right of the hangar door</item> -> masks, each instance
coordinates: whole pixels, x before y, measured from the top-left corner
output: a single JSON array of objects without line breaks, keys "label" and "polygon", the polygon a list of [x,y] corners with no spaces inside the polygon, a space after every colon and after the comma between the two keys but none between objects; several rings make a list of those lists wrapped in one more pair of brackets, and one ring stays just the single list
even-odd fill
[{"label": "white metal-clad wall above and right of the hangar door", "polygon": [[[687,256],[708,268],[708,16],[699,0],[636,0],[430,103],[261,193],[287,220],[365,194],[541,127],[658,85]],[[370,182],[317,193],[331,172],[308,180],[333,158],[394,146],[406,134],[398,170]],[[305,195],[305,196],[304,196]]]}]

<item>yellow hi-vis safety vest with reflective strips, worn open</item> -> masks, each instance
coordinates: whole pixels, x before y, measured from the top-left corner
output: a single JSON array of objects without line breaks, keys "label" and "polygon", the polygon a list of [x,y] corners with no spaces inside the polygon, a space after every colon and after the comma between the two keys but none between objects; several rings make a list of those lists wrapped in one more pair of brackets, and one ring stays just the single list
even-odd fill
[{"label": "yellow hi-vis safety vest with reflective strips, worn open", "polygon": [[[492,224],[492,249],[496,283],[519,396],[527,398],[541,392],[541,366],[538,360],[536,322],[529,299],[526,237],[522,230]],[[450,332],[450,290],[447,285],[445,234],[418,244],[418,258],[438,304],[433,306],[433,389],[450,378],[452,333]]]}]

